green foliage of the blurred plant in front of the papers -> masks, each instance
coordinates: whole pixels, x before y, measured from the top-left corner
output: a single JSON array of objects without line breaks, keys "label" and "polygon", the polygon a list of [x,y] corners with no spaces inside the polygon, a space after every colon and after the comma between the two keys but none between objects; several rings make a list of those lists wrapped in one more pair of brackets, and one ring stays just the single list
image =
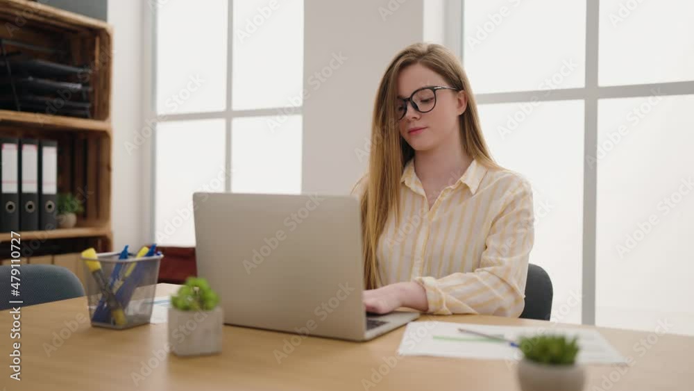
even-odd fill
[{"label": "green foliage of the blurred plant in front of the papers", "polygon": [[518,347],[528,360],[549,365],[573,365],[579,351],[577,338],[563,335],[522,337]]}]

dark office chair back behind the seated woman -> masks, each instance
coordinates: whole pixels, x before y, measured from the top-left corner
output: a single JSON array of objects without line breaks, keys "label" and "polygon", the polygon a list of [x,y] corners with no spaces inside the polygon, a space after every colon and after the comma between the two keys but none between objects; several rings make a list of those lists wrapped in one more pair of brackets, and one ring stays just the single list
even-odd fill
[{"label": "dark office chair back behind the seated woman", "polygon": [[525,308],[523,319],[550,320],[552,315],[552,280],[545,269],[538,265],[527,265],[525,283]]}]

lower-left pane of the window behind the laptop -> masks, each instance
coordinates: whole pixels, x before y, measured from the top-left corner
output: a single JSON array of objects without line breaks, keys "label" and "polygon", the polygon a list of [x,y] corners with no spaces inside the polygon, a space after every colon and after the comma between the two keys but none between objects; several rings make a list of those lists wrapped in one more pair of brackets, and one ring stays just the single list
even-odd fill
[{"label": "lower-left pane of the window behind the laptop", "polygon": [[224,120],[163,122],[156,133],[156,243],[194,246],[193,193],[223,192],[228,178]]}]

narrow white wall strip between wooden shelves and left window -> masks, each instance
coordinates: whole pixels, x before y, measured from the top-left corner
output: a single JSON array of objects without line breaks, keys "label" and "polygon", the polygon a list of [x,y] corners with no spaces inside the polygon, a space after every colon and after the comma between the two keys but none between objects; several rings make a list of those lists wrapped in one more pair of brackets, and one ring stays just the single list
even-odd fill
[{"label": "narrow white wall strip between wooden shelves and left window", "polygon": [[114,31],[111,222],[115,250],[126,244],[142,246],[146,240],[142,227],[150,217],[149,213],[143,215],[147,209],[142,203],[141,182],[143,175],[149,174],[142,171],[142,155],[149,149],[144,146],[132,151],[126,149],[126,142],[133,142],[135,134],[144,126],[142,40],[149,31],[144,31],[143,9],[139,0],[108,2],[108,23]]}]

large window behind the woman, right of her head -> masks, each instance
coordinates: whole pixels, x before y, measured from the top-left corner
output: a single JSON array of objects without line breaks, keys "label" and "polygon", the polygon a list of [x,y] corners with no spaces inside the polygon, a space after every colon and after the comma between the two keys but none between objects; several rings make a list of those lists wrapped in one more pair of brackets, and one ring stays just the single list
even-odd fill
[{"label": "large window behind the woman, right of her head", "polygon": [[494,157],[533,185],[552,319],[693,333],[694,3],[463,4],[446,42]]}]

